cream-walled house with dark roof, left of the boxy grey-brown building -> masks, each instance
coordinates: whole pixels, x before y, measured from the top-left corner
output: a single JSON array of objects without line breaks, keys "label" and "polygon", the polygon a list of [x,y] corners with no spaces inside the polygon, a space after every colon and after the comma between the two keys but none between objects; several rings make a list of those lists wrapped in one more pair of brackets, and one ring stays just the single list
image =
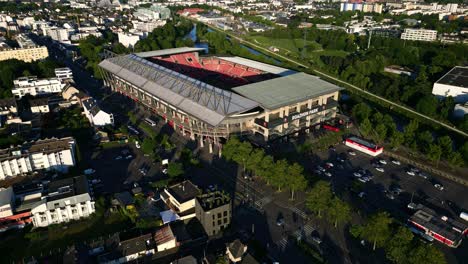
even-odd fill
[{"label": "cream-walled house with dark roof, left of the boxy grey-brown building", "polygon": [[186,220],[195,217],[195,197],[200,189],[191,181],[183,181],[164,189],[161,199],[177,214],[176,219]]}]

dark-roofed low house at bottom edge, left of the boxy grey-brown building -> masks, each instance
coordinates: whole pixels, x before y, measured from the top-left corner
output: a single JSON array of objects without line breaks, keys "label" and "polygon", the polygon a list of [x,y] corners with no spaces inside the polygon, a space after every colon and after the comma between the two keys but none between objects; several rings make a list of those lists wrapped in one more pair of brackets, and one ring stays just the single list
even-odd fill
[{"label": "dark-roofed low house at bottom edge, left of the boxy grey-brown building", "polygon": [[[98,256],[98,263],[118,264],[135,261],[145,256],[151,256],[155,252],[151,234],[120,241],[118,246],[108,253]],[[137,262],[137,261],[136,261]]]}]

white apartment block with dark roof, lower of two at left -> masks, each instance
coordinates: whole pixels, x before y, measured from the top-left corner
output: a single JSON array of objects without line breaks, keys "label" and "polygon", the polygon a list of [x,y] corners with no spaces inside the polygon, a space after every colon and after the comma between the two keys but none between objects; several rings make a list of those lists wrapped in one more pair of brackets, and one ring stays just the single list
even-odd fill
[{"label": "white apartment block with dark roof, lower of two at left", "polygon": [[47,194],[31,210],[32,223],[35,227],[45,227],[89,217],[95,211],[87,178],[77,176],[48,184]]}]

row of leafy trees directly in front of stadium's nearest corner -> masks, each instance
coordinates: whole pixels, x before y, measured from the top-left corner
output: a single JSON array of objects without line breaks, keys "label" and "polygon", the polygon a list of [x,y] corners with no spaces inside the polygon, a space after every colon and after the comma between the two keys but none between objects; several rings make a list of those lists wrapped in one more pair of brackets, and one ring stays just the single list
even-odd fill
[{"label": "row of leafy trees directly in front of stadium's nearest corner", "polygon": [[304,168],[298,163],[289,164],[287,160],[274,160],[266,155],[263,149],[253,148],[247,141],[241,142],[237,137],[231,137],[223,147],[223,157],[239,164],[244,173],[246,170],[254,176],[259,176],[277,188],[278,191],[289,189],[291,199],[297,191],[307,187]]}]

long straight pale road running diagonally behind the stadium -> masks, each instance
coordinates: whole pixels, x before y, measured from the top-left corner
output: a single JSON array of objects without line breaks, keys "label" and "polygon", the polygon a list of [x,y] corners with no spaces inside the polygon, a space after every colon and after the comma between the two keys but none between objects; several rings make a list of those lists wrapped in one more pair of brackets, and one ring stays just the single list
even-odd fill
[{"label": "long straight pale road running diagonally behind the stadium", "polygon": [[[197,22],[199,22],[199,21],[197,21]],[[455,132],[455,133],[457,133],[457,134],[460,134],[460,135],[462,135],[462,136],[464,136],[464,137],[468,137],[468,133],[465,133],[465,132],[461,131],[460,129],[457,129],[456,127],[454,127],[454,126],[452,126],[452,125],[449,125],[449,124],[447,124],[447,123],[444,123],[444,122],[435,120],[434,118],[429,117],[429,116],[426,116],[426,115],[423,115],[423,114],[421,114],[421,113],[418,113],[418,112],[414,111],[413,109],[411,109],[411,108],[409,108],[409,107],[406,107],[406,106],[397,104],[397,103],[395,103],[395,102],[392,102],[392,101],[390,101],[390,100],[388,100],[388,99],[385,99],[385,98],[383,98],[383,97],[381,97],[381,96],[378,96],[378,95],[373,94],[373,93],[371,93],[371,92],[369,92],[369,91],[366,91],[366,90],[364,90],[364,89],[361,89],[361,88],[359,88],[359,87],[357,87],[357,86],[355,86],[355,85],[353,85],[353,84],[350,84],[350,83],[348,83],[348,82],[342,81],[342,80],[340,80],[340,79],[338,79],[338,78],[335,78],[335,77],[333,77],[333,76],[330,76],[330,75],[328,75],[328,74],[326,74],[326,73],[324,73],[324,72],[322,72],[322,71],[319,71],[319,70],[314,69],[314,68],[312,68],[312,67],[310,67],[310,66],[307,66],[307,65],[305,65],[305,64],[302,64],[302,63],[300,63],[300,62],[298,62],[298,61],[295,61],[295,60],[293,60],[293,59],[291,59],[291,58],[288,58],[288,57],[285,57],[285,56],[283,56],[283,55],[281,55],[281,54],[277,54],[277,53],[275,53],[275,52],[272,52],[272,51],[268,50],[267,48],[264,48],[264,47],[262,47],[262,46],[259,46],[259,45],[255,44],[255,43],[253,43],[253,42],[250,42],[250,41],[248,41],[248,40],[245,40],[245,39],[243,39],[243,38],[241,38],[241,37],[239,37],[239,36],[236,36],[236,35],[233,35],[233,34],[231,34],[231,33],[222,31],[222,30],[220,30],[220,29],[218,29],[218,28],[216,28],[216,27],[213,27],[213,26],[211,26],[211,25],[209,25],[209,24],[205,24],[205,25],[207,25],[208,27],[210,27],[211,29],[214,29],[214,30],[216,30],[216,31],[223,32],[223,33],[229,35],[231,38],[234,38],[234,39],[238,40],[238,41],[241,42],[241,43],[246,43],[246,44],[248,44],[249,46],[255,47],[256,49],[258,49],[258,50],[260,50],[260,51],[262,51],[262,52],[264,52],[264,53],[266,53],[266,54],[269,54],[269,55],[272,56],[272,57],[277,57],[277,58],[283,59],[283,60],[285,60],[285,61],[291,62],[291,63],[293,63],[293,64],[295,64],[295,65],[298,65],[298,66],[300,66],[300,67],[303,67],[303,68],[306,68],[306,69],[310,69],[310,70],[312,70],[312,71],[313,71],[315,74],[317,74],[317,75],[325,76],[325,77],[328,78],[328,79],[331,79],[331,80],[333,80],[333,81],[335,81],[335,82],[344,84],[344,85],[346,85],[347,87],[350,87],[350,88],[355,89],[355,90],[357,90],[357,91],[359,91],[359,92],[361,92],[361,93],[364,93],[364,94],[366,94],[366,95],[368,95],[368,96],[371,96],[372,98],[375,98],[375,99],[377,99],[377,100],[380,100],[380,101],[382,101],[382,102],[385,102],[385,103],[387,103],[387,104],[389,104],[389,105],[391,105],[391,106],[393,106],[393,107],[400,108],[400,109],[402,109],[402,110],[404,110],[404,111],[407,111],[407,112],[409,112],[409,113],[411,113],[411,114],[414,114],[414,115],[417,115],[417,116],[419,116],[419,117],[421,117],[421,118],[424,118],[425,120],[427,120],[427,121],[429,121],[429,122],[432,122],[432,123],[435,123],[435,124],[437,124],[437,125],[443,126],[443,127],[447,128],[447,129],[449,129],[449,130],[451,130],[451,131],[453,131],[453,132]]]}]

